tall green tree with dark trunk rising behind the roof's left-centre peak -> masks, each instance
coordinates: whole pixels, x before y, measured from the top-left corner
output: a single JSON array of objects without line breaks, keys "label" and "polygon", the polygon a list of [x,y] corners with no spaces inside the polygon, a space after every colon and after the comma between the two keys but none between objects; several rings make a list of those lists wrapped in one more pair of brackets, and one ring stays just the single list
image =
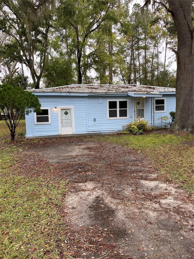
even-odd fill
[{"label": "tall green tree with dark trunk rising behind the roof's left-centre peak", "polygon": [[[86,48],[87,51],[89,51],[90,46],[93,45],[90,44],[90,41],[92,41],[94,32],[100,32],[101,27],[104,26],[105,28],[105,24],[109,21],[111,21],[111,24],[116,23],[117,12],[115,9],[115,2],[111,0],[106,2],[102,0],[98,2],[93,0],[60,1],[58,7],[58,24],[61,26],[61,34],[64,35],[62,38],[64,38],[65,41],[62,40],[62,42],[66,45],[65,51],[71,49],[71,55],[69,55],[68,58],[70,56],[76,58],[75,66],[78,83],[82,83],[82,79],[85,83],[88,82],[89,77],[87,76],[87,72],[93,67],[93,58],[95,58],[96,53],[103,55],[98,40],[97,48],[95,47],[90,55],[86,53]],[[109,26],[106,27],[109,29]],[[70,40],[69,38],[67,39],[67,34],[70,36]],[[90,56],[92,56],[92,62],[91,59],[89,61]],[[102,62],[99,56],[97,60],[100,66]]]}]

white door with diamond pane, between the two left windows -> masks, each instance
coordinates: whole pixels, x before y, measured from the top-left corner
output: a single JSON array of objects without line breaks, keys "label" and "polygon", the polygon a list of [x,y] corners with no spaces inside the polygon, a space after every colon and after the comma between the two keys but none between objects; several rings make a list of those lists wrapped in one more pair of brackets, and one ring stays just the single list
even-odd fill
[{"label": "white door with diamond pane, between the two left windows", "polygon": [[60,108],[60,134],[73,134],[74,128],[73,107]]}]

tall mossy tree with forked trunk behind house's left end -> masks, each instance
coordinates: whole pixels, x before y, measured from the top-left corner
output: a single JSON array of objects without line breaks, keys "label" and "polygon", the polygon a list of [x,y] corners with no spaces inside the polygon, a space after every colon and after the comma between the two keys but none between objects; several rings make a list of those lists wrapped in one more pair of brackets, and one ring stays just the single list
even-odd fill
[{"label": "tall mossy tree with forked trunk behind house's left end", "polygon": [[54,1],[2,0],[0,30],[9,35],[20,50],[15,61],[29,69],[35,88],[39,88],[48,48],[48,33]]}]

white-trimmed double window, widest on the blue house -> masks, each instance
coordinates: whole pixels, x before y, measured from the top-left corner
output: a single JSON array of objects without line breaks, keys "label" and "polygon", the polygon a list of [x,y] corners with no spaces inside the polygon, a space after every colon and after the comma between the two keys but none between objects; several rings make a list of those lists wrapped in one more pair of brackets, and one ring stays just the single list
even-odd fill
[{"label": "white-trimmed double window, widest on the blue house", "polygon": [[108,119],[128,118],[128,100],[107,100]]}]

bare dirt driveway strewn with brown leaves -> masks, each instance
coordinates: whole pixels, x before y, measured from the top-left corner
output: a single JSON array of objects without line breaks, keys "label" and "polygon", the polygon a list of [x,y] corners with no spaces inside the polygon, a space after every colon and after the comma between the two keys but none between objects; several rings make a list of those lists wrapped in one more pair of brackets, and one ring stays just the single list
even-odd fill
[{"label": "bare dirt driveway strewn with brown leaves", "polygon": [[68,181],[60,213],[72,258],[193,258],[192,197],[142,154],[82,137],[48,143],[28,154]]}]

